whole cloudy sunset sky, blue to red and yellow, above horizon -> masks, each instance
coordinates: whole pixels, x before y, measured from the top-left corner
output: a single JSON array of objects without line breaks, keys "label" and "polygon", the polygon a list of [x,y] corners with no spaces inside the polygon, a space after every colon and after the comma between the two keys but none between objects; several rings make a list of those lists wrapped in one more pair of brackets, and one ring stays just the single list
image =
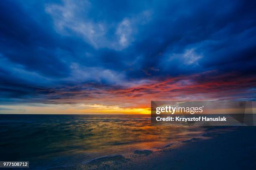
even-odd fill
[{"label": "whole cloudy sunset sky, blue to red and yellow, above horizon", "polygon": [[255,100],[256,1],[0,2],[0,113]]}]

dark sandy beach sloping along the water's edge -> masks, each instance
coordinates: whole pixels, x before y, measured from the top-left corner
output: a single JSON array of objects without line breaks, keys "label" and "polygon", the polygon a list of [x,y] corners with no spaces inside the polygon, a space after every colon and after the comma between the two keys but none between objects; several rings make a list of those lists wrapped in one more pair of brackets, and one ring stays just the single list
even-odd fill
[{"label": "dark sandy beach sloping along the water's edge", "polygon": [[256,127],[239,127],[225,133],[207,133],[154,150],[137,150],[83,165],[51,170],[253,170],[256,169]]}]

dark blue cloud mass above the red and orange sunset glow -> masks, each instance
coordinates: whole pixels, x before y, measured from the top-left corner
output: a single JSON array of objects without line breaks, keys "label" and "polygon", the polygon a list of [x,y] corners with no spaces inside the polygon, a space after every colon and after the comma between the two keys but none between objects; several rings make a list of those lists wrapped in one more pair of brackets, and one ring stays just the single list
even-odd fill
[{"label": "dark blue cloud mass above the red and orange sunset glow", "polygon": [[0,2],[1,101],[209,70],[255,76],[255,3]]}]

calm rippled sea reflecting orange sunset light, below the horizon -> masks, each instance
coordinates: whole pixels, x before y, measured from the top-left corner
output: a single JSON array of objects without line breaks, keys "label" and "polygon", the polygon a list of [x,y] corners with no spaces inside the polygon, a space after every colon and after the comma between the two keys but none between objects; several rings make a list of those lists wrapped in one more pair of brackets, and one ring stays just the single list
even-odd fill
[{"label": "calm rippled sea reflecting orange sunset light, below the horizon", "polygon": [[154,149],[205,133],[186,125],[151,125],[150,115],[0,115],[0,161],[31,169],[87,163]]}]

